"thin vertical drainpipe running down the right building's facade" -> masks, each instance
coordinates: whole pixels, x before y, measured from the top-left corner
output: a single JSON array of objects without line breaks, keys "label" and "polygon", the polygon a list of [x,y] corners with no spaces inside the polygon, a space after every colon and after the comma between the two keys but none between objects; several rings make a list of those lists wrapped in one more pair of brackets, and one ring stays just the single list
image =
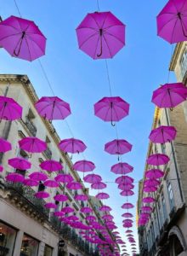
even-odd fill
[{"label": "thin vertical drainpipe running down the right building's facade", "polygon": [[[167,108],[164,108],[165,110],[165,114],[166,114],[166,118],[167,118],[167,125],[171,125],[170,121],[169,121],[169,115],[167,113]],[[178,163],[177,163],[177,157],[176,157],[176,153],[174,151],[174,144],[173,142],[171,142],[171,148],[172,148],[172,154],[173,154],[173,162],[174,162],[174,167],[175,167],[175,172],[176,172],[176,176],[177,176],[177,180],[178,180],[178,189],[179,189],[179,193],[180,193],[180,198],[181,201],[184,203],[184,196],[183,196],[183,191],[181,188],[181,183],[180,183],[180,177],[179,177],[179,170],[178,170]]]}]

